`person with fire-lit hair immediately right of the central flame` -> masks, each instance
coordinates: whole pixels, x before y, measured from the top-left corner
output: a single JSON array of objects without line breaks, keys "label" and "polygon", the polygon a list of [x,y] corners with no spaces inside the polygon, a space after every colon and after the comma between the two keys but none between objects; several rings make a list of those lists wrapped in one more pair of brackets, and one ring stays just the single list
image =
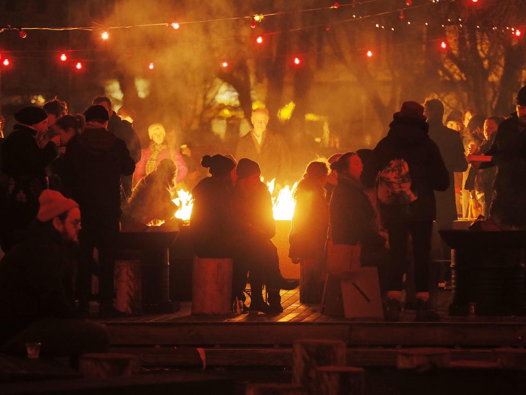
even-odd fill
[{"label": "person with fire-lit hair immediately right of the central flame", "polygon": [[289,234],[289,257],[300,263],[300,302],[321,301],[325,243],[329,209],[325,189],[329,177],[326,162],[311,162],[294,191],[296,208]]}]

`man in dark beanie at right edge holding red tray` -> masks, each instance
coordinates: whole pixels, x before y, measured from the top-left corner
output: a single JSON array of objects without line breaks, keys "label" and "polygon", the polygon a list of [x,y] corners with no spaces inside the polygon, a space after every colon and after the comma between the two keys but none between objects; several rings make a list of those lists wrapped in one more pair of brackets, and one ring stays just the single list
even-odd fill
[{"label": "man in dark beanie at right edge holding red tray", "polygon": [[517,112],[499,125],[491,148],[491,162],[474,163],[480,169],[497,166],[490,218],[504,229],[526,228],[526,86],[517,94]]}]

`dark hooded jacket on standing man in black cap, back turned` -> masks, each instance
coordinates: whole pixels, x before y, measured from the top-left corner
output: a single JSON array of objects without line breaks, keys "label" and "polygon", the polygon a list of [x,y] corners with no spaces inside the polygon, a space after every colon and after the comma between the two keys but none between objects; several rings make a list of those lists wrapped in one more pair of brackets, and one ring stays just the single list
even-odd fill
[{"label": "dark hooded jacket on standing man in black cap, back turned", "polygon": [[124,141],[104,127],[86,125],[64,154],[64,184],[84,213],[119,216],[120,176],[135,170]]}]

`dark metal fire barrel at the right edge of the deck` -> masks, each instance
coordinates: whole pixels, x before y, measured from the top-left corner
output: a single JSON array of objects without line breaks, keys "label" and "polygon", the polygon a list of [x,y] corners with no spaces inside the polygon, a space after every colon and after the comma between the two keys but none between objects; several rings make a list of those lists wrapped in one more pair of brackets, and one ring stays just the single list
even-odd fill
[{"label": "dark metal fire barrel at the right edge of the deck", "polygon": [[452,315],[526,315],[526,232],[440,235],[452,249]]}]

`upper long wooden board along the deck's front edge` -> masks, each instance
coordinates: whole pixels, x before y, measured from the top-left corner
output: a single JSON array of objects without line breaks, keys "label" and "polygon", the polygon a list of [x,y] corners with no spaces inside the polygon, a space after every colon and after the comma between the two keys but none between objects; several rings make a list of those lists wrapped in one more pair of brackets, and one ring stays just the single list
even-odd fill
[{"label": "upper long wooden board along the deck's front edge", "polygon": [[[308,318],[312,317],[312,314]],[[292,344],[298,338],[338,339],[352,346],[524,345],[523,323],[420,322],[240,322],[106,323],[111,344]],[[264,336],[255,336],[264,333]]]}]

